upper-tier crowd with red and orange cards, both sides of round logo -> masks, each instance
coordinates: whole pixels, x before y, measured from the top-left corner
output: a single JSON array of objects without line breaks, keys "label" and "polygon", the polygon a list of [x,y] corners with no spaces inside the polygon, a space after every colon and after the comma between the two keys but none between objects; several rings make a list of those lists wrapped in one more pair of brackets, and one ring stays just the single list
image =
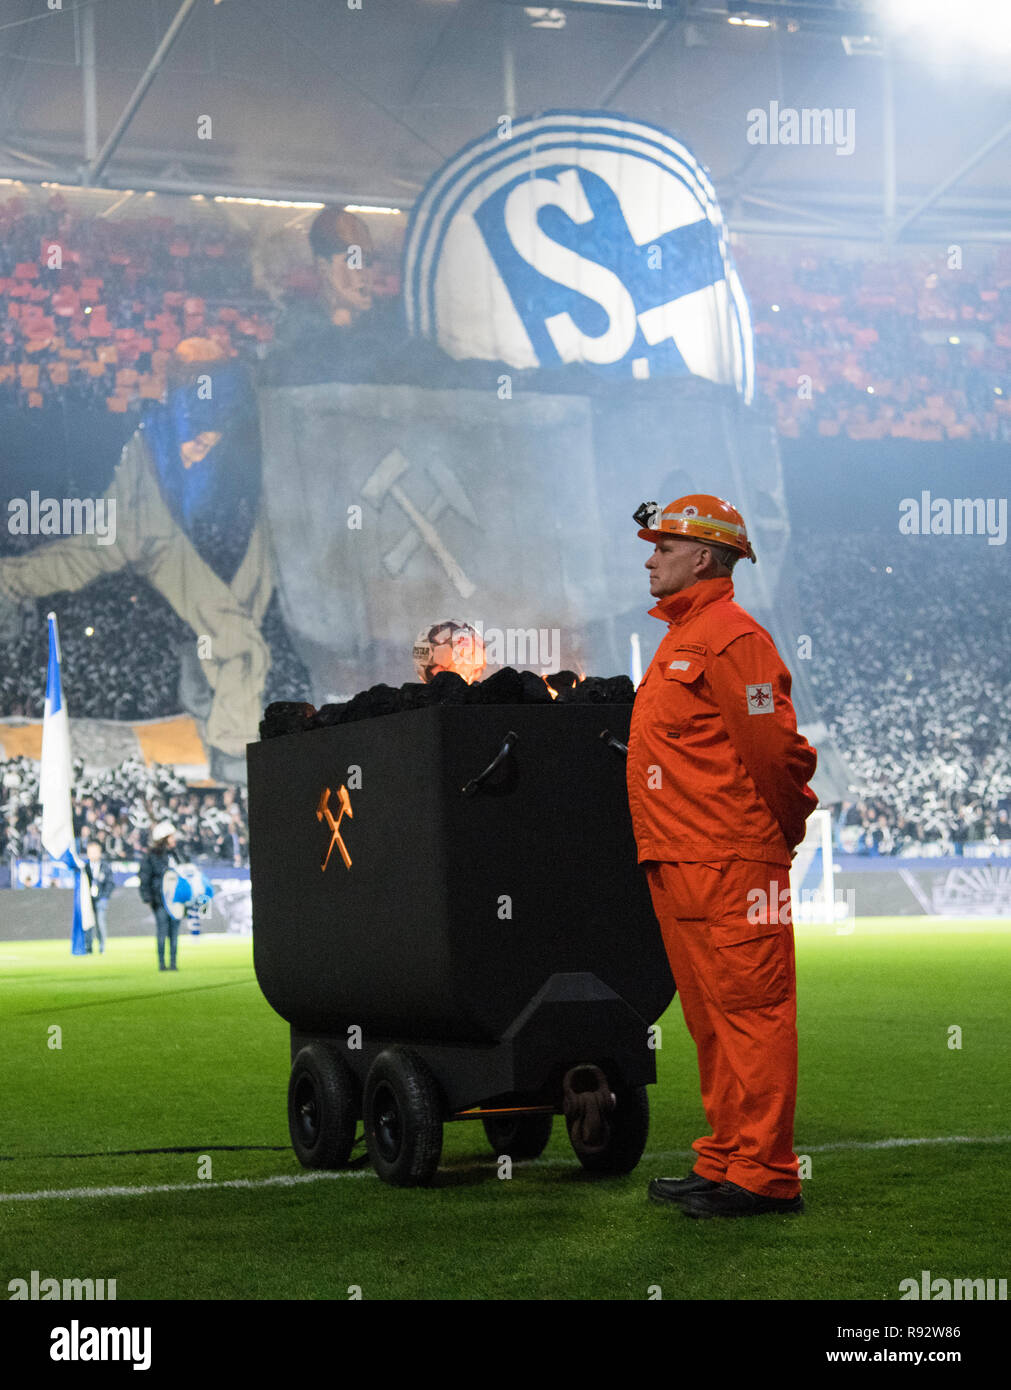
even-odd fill
[{"label": "upper-tier crowd with red and orange cards, both sides of round logo", "polygon": [[[780,434],[1011,441],[1010,250],[734,254]],[[220,224],[79,217],[58,193],[46,207],[7,200],[0,404],[139,410],[189,336],[263,356],[277,304],[252,263],[250,238]],[[380,281],[389,293],[396,277]]]}]

